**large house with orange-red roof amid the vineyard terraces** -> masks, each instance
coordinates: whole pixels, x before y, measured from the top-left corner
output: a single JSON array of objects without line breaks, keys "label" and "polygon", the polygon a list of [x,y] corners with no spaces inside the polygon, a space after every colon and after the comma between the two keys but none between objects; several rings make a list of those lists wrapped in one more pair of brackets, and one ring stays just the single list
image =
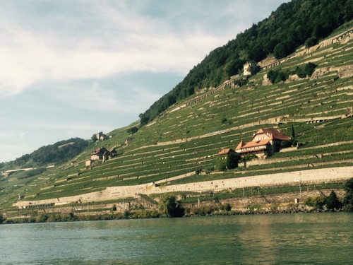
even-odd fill
[{"label": "large house with orange-red roof amid the vineyard terraces", "polygon": [[249,143],[241,141],[235,151],[239,155],[256,155],[259,158],[280,150],[282,141],[290,138],[275,129],[259,129]]}]

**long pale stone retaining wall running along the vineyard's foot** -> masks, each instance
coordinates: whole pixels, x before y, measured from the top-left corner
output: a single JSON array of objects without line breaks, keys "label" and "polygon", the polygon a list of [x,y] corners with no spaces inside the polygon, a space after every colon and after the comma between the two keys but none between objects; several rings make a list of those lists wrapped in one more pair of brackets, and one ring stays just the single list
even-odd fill
[{"label": "long pale stone retaining wall running along the vineyard's foot", "polygon": [[[165,187],[148,187],[148,184],[136,186],[107,187],[100,192],[91,192],[77,196],[61,197],[41,201],[18,201],[14,206],[28,206],[28,204],[59,204],[63,202],[80,201],[107,201],[127,197],[139,197],[138,194],[163,194],[166,192],[203,192],[221,191],[223,189],[239,189],[243,187],[275,186],[284,184],[298,184],[294,180],[305,182],[334,182],[353,177],[353,167],[332,167],[316,170],[285,172],[253,177],[238,177],[234,179],[219,179],[207,182],[170,185]],[[148,189],[147,189],[148,187]]]}]

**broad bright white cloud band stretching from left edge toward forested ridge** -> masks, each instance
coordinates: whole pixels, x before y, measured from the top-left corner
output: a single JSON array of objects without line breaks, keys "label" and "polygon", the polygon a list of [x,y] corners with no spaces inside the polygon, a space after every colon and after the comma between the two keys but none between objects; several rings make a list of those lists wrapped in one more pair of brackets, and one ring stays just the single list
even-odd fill
[{"label": "broad bright white cloud band stretching from left edge toward forested ridge", "polygon": [[2,16],[1,94],[17,94],[41,81],[99,79],[131,71],[186,73],[220,42],[201,30],[174,33],[162,21],[149,20],[124,6],[99,7],[109,35],[64,35],[63,39],[54,29],[27,29]]}]

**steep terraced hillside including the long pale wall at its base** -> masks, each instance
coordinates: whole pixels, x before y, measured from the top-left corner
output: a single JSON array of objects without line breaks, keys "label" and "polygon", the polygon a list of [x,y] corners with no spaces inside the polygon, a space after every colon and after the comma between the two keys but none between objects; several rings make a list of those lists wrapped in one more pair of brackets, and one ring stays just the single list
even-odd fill
[{"label": "steep terraced hillside including the long pale wall at its base", "polygon": [[[10,210],[19,194],[25,197],[18,205],[29,201],[41,204],[41,200],[50,205],[109,201],[163,192],[194,196],[184,200],[192,203],[196,192],[227,190],[224,196],[232,198],[239,196],[239,187],[247,187],[252,194],[261,185],[288,185],[294,177],[289,183],[289,174],[279,179],[275,174],[299,171],[308,190],[310,183],[325,182],[325,187],[327,182],[340,182],[353,169],[352,33],[349,30],[309,49],[298,49],[285,59],[264,65],[250,78],[229,79],[213,90],[181,100],[145,126],[135,122],[116,129],[110,133],[111,139],[39,176],[4,174],[0,178],[0,208]],[[131,126],[140,129],[128,134]],[[235,170],[215,170],[215,154],[236,148],[241,140],[249,141],[261,128],[278,129],[289,136],[294,130],[295,141],[302,146],[283,148],[267,159],[247,160],[246,167],[240,164]],[[85,167],[92,149],[102,146],[115,148],[119,155]],[[313,169],[323,170],[315,173]]]}]

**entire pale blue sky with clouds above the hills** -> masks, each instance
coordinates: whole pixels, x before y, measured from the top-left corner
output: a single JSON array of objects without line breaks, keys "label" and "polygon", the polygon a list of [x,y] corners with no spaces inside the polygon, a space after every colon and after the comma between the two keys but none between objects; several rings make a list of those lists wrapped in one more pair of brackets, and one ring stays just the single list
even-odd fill
[{"label": "entire pale blue sky with clouds above the hills", "polygon": [[0,0],[0,162],[135,122],[283,2]]}]

